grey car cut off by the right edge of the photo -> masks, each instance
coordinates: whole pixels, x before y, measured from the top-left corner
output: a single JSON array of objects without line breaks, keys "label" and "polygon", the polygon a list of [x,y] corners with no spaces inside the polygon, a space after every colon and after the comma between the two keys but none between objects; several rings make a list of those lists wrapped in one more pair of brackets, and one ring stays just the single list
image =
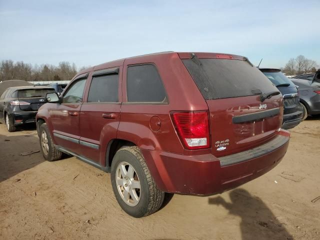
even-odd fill
[{"label": "grey car cut off by the right edge of the photo", "polygon": [[320,69],[315,72],[313,79],[293,79],[292,82],[299,86],[300,102],[307,115],[320,114]]}]

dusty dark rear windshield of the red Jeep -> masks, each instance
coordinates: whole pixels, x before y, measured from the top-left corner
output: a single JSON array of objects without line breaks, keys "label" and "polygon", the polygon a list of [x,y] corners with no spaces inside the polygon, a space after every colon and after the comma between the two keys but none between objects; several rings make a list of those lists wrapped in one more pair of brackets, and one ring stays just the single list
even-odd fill
[{"label": "dusty dark rear windshield of the red Jeep", "polygon": [[256,67],[233,59],[182,59],[204,99],[249,96],[277,90]]}]

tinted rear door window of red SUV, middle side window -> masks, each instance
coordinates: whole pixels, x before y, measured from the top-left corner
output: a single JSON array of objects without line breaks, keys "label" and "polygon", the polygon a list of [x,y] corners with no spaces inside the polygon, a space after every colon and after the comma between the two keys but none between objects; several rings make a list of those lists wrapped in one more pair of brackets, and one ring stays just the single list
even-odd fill
[{"label": "tinted rear door window of red SUV, middle side window", "polygon": [[93,76],[88,102],[115,102],[118,101],[118,74]]}]

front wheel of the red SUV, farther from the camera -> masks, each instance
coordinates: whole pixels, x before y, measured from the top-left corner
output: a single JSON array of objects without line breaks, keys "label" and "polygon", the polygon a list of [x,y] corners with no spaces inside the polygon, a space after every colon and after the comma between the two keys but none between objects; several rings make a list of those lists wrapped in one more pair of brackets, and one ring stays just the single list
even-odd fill
[{"label": "front wheel of the red SUV, farther from the camera", "polygon": [[46,160],[55,161],[61,159],[62,152],[55,147],[46,123],[42,123],[39,127],[39,141],[40,150]]}]

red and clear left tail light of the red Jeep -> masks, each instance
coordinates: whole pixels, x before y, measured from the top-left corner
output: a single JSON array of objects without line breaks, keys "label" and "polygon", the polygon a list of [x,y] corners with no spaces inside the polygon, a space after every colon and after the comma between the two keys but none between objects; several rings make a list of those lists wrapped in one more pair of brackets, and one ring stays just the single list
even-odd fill
[{"label": "red and clear left tail light of the red Jeep", "polygon": [[209,118],[207,111],[171,112],[175,129],[187,149],[210,146]]}]

